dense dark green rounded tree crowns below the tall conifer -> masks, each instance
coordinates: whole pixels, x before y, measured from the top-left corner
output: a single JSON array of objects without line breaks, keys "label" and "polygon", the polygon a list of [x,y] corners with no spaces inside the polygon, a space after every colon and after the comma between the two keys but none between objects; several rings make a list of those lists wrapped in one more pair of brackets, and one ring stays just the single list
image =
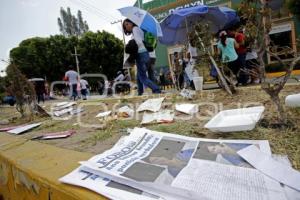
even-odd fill
[{"label": "dense dark green rounded tree crowns below the tall conifer", "polygon": [[104,73],[112,78],[122,67],[123,43],[105,31],[87,32],[79,39],[63,35],[30,38],[12,49],[10,58],[28,78],[57,81],[62,80],[68,65],[75,65],[75,46],[80,54],[81,73]]}]

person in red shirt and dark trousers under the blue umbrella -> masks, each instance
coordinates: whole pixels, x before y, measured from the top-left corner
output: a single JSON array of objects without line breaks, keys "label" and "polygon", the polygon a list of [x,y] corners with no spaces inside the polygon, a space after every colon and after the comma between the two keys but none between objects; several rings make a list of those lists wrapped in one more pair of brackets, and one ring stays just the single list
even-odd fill
[{"label": "person in red shirt and dark trousers under the blue umbrella", "polygon": [[235,49],[236,53],[238,54],[238,63],[240,65],[237,85],[239,84],[246,85],[249,77],[246,73],[247,47],[245,46],[245,35],[242,32],[238,32],[237,28],[229,29],[228,35],[234,38],[235,41],[239,44],[239,47]]}]

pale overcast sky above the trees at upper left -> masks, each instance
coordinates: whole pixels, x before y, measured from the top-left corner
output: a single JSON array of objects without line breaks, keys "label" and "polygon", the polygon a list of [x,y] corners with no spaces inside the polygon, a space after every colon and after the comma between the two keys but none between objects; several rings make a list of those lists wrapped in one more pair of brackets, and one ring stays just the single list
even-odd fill
[{"label": "pale overcast sky above the trees at upper left", "polygon": [[[132,6],[135,0],[1,0],[0,60],[8,60],[10,49],[31,37],[59,34],[57,17],[60,7],[70,7],[72,14],[82,11],[91,31],[106,30],[122,38],[118,8]],[[6,67],[0,61],[0,71]]]}]

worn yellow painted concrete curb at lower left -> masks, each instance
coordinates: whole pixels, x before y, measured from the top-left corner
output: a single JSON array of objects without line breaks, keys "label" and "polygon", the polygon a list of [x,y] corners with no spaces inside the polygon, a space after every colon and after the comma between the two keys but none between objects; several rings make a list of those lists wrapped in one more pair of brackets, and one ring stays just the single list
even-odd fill
[{"label": "worn yellow painted concrete curb at lower left", "polygon": [[0,133],[0,199],[106,199],[87,189],[58,181],[78,167],[78,161],[91,156]]}]

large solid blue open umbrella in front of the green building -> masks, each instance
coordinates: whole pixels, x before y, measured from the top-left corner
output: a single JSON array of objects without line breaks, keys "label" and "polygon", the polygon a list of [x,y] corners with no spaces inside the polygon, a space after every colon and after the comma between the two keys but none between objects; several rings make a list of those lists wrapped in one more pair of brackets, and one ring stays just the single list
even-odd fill
[{"label": "large solid blue open umbrella in front of the green building", "polygon": [[239,17],[234,10],[227,7],[199,5],[175,10],[161,22],[163,37],[159,41],[166,45],[185,43],[187,30],[199,22],[209,23],[209,31],[216,33],[239,22]]}]

